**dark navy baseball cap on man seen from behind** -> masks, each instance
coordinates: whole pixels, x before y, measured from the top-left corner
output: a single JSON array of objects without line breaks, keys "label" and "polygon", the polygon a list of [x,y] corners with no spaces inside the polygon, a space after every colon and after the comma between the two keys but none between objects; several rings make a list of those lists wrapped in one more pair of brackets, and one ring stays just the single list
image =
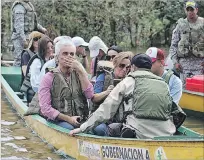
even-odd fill
[{"label": "dark navy baseball cap on man seen from behind", "polygon": [[152,68],[151,58],[148,55],[144,54],[144,53],[136,54],[132,58],[131,64],[132,65],[134,64],[138,68],[146,68],[146,69],[151,69]]}]

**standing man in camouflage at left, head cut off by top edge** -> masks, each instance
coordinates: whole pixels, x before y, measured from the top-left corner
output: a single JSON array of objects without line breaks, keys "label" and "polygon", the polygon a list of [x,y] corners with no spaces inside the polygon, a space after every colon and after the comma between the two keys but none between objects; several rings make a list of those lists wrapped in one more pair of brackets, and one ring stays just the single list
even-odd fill
[{"label": "standing man in camouflage at left, head cut off by top edge", "polygon": [[18,0],[11,8],[11,40],[14,46],[14,66],[20,66],[21,53],[27,46],[28,35],[36,30],[46,33],[47,30],[37,23],[34,6],[29,0]]}]

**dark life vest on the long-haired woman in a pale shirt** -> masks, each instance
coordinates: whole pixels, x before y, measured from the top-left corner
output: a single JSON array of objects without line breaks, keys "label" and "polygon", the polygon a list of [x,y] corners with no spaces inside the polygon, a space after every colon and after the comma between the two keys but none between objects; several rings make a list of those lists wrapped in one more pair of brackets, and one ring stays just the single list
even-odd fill
[{"label": "dark life vest on the long-haired woman in a pale shirt", "polygon": [[31,64],[33,63],[33,61],[36,58],[40,59],[40,62],[41,62],[40,70],[42,69],[45,61],[38,54],[35,54],[33,57],[31,57],[31,59],[28,62],[27,69],[26,69],[26,76],[25,76],[23,84],[22,84],[22,86],[20,88],[20,91],[24,92],[26,94],[26,98],[27,98],[28,103],[31,102],[33,96],[35,95],[35,92],[33,91],[32,86],[31,86],[31,82],[30,82],[31,75],[30,75],[29,71],[30,71]]}]

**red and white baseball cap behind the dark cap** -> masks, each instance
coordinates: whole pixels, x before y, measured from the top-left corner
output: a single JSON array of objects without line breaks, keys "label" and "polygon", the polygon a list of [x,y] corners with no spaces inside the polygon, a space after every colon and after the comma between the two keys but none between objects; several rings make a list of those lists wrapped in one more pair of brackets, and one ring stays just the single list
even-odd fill
[{"label": "red and white baseball cap behind the dark cap", "polygon": [[152,63],[154,63],[156,60],[161,60],[162,64],[164,65],[164,51],[156,48],[156,47],[150,47],[146,53],[146,55],[148,55],[151,60]]}]

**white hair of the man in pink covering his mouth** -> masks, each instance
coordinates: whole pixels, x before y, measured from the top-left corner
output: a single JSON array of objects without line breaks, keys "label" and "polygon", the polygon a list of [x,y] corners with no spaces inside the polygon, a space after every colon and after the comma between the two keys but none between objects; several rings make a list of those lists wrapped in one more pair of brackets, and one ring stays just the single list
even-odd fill
[{"label": "white hair of the man in pink covering his mouth", "polygon": [[[56,44],[55,44],[55,55],[58,55],[60,52],[60,49],[63,46],[73,46],[75,47],[72,38],[69,36],[66,36],[64,38],[61,38]],[[75,47],[76,48],[76,47]]]}]

